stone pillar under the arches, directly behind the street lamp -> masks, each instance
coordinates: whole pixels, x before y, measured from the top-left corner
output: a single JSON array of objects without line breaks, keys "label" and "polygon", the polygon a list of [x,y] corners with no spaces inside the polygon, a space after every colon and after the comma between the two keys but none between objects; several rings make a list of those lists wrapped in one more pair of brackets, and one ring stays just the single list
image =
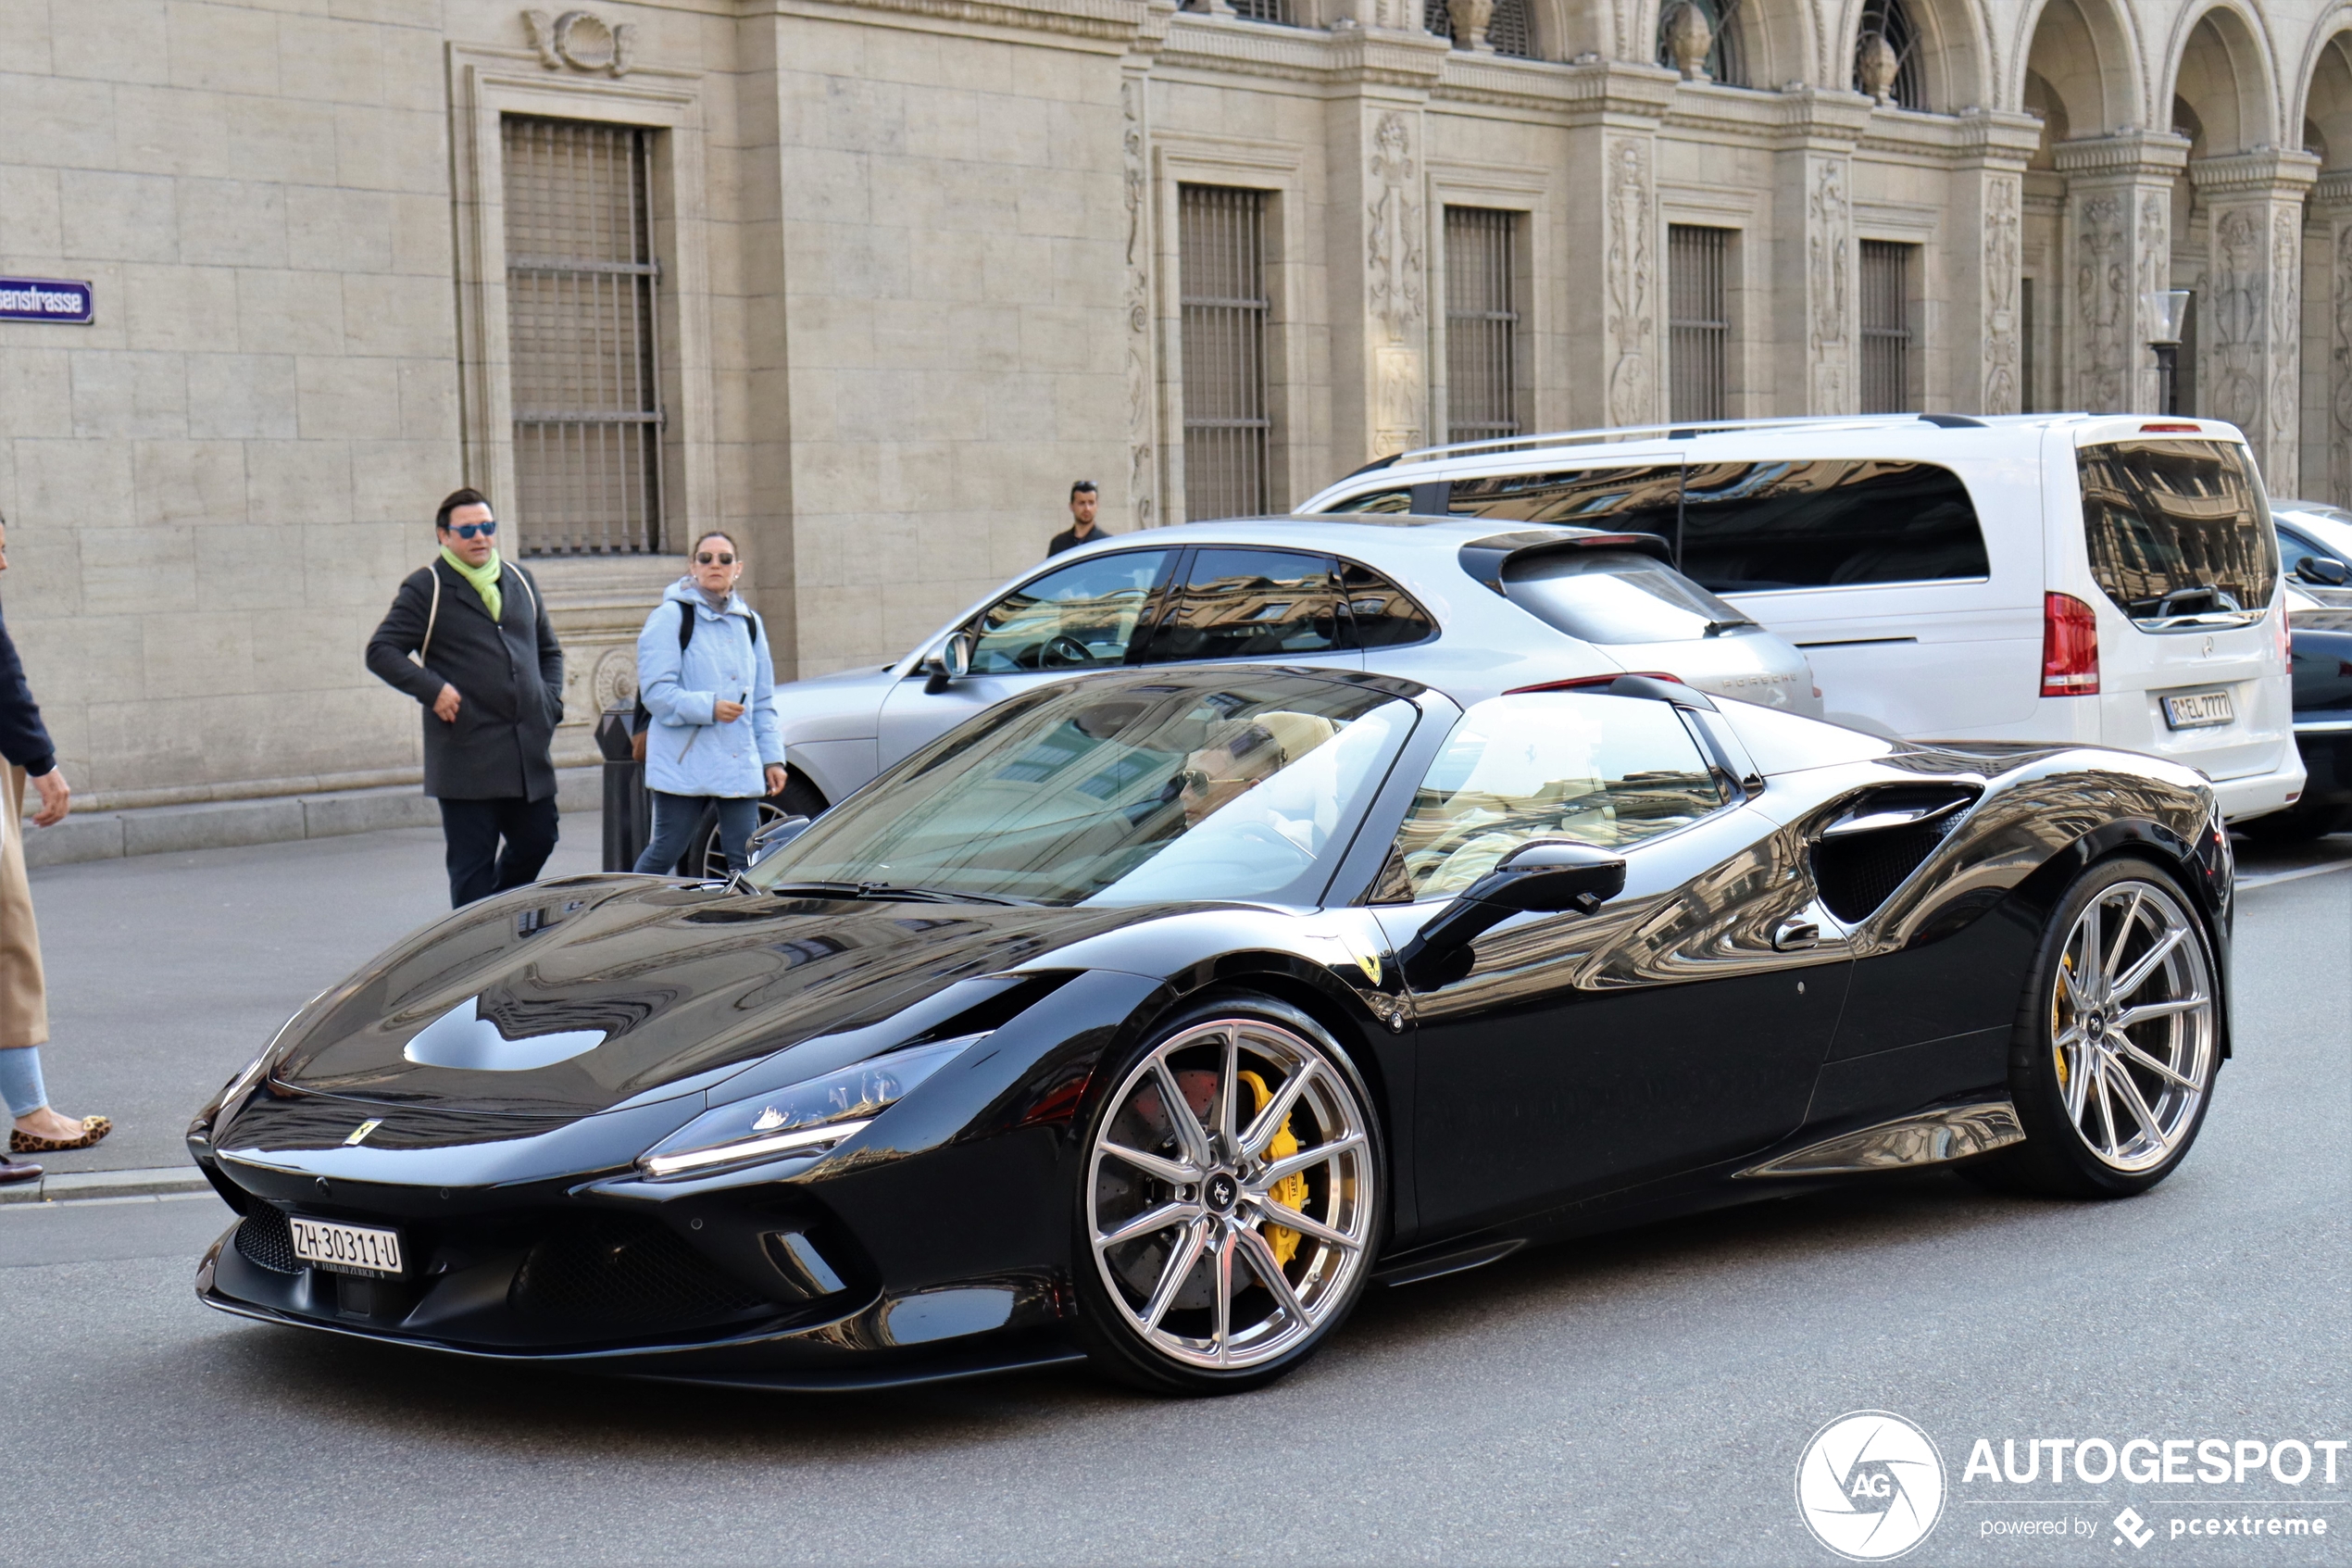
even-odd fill
[{"label": "stone pillar under the arches, directly behind the street lamp", "polygon": [[2067,141],[2063,402],[2091,414],[2157,407],[2157,357],[2140,301],[2171,287],[2173,179],[2187,141],[2119,132]]}]

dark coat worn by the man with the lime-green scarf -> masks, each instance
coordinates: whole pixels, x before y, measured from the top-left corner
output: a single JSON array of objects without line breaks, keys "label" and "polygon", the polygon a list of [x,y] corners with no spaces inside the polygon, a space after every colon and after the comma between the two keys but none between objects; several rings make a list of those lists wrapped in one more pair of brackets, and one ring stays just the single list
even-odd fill
[{"label": "dark coat worn by the man with the lime-green scarf", "polygon": [[[426,663],[409,661],[433,616],[440,616]],[[555,726],[564,717],[564,651],[555,642],[539,583],[501,559],[503,618],[492,625],[482,595],[435,557],[412,571],[393,595],[383,625],[367,639],[367,668],[414,696],[426,715],[426,795],[440,799],[548,799],[555,795]],[[456,686],[456,724],[442,724],[433,698],[442,682]]]}]

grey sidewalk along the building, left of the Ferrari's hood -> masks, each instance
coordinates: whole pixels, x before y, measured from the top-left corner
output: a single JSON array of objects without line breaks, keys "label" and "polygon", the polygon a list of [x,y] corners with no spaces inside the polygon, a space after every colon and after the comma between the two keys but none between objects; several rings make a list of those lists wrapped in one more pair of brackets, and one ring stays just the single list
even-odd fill
[{"label": "grey sidewalk along the building, left of the Ferrari's hood", "polygon": [[[602,816],[567,813],[548,877],[593,872]],[[200,849],[33,870],[49,971],[42,1074],[68,1114],[106,1112],[94,1150],[49,1173],[188,1166],[188,1117],[303,1001],[447,914],[437,827]]]}]

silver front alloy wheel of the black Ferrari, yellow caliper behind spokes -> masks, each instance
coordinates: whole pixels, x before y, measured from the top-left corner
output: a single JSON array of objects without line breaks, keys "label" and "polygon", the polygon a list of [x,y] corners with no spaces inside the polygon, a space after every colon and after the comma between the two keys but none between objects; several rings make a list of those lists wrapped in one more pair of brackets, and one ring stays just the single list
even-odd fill
[{"label": "silver front alloy wheel of the black Ferrari, yellow caliper behind spokes", "polygon": [[1256,1018],[1162,1041],[1089,1150],[1103,1286],[1145,1345],[1188,1366],[1261,1366],[1312,1338],[1369,1267],[1376,1213],[1355,1086]]}]

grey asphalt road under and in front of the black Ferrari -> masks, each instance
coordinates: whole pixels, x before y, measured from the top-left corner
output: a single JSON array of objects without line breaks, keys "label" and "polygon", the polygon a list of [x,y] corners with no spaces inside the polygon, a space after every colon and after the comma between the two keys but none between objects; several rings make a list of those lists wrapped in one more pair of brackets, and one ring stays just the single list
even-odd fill
[{"label": "grey asphalt road under and in front of the black Ferrari", "polygon": [[[205,1312],[212,1199],[0,1208],[0,1561],[1832,1563],[1795,1469],[1860,1408],[1947,1469],[1905,1561],[2347,1561],[2352,1450],[2298,1486],[1962,1474],[1976,1439],[2352,1439],[2352,875],[2249,891],[2237,952],[2239,1056],[2147,1197],[1919,1173],[1522,1253],[1381,1291],[1301,1375],[1209,1403],[1084,1373],[809,1399],[482,1371]],[[172,1016],[285,1011],[252,983]],[[221,1077],[247,1046],[202,1048]],[[2331,1533],[2171,1537],[2223,1514]],[[2082,1533],[1990,1533],[2049,1521]]]}]

